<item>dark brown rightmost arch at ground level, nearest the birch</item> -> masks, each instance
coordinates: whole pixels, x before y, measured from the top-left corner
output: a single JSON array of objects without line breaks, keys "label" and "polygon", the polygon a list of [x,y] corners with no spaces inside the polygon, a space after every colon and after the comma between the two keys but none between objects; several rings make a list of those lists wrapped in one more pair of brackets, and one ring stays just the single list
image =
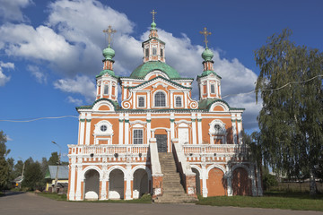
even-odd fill
[{"label": "dark brown rightmost arch at ground level, nearest the birch", "polygon": [[250,179],[245,168],[236,168],[232,178],[233,195],[251,195]]}]

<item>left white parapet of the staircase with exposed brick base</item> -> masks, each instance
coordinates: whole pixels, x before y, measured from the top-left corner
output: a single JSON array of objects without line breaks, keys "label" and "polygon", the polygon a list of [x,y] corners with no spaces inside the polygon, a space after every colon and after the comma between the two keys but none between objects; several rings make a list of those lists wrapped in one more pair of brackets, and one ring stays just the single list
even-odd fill
[{"label": "left white parapet of the staircase with exposed brick base", "polygon": [[153,199],[162,195],[162,168],[158,156],[158,148],[156,138],[149,140],[149,151],[152,163],[152,176],[153,176]]}]

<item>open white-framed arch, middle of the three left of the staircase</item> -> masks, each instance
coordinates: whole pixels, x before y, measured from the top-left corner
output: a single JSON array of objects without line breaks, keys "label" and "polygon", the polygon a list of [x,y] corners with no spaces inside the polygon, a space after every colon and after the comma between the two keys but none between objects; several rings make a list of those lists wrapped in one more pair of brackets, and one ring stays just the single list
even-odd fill
[{"label": "open white-framed arch, middle of the three left of the staircase", "polygon": [[109,199],[124,198],[124,173],[114,169],[109,174]]}]

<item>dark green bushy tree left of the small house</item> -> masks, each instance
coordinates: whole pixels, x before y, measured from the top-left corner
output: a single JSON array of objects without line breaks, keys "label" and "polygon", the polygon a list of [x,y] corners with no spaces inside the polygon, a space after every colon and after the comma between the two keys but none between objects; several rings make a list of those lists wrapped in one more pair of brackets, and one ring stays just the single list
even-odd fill
[{"label": "dark green bushy tree left of the small house", "polygon": [[41,166],[38,161],[34,162],[31,158],[26,160],[24,179],[22,186],[29,190],[41,189],[44,186],[44,175],[41,172]]}]

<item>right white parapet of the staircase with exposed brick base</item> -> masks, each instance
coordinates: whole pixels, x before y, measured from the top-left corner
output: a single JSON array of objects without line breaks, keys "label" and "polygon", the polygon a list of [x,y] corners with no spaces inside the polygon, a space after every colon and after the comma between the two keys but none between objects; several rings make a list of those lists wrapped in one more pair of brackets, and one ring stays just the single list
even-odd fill
[{"label": "right white parapet of the staircase with exposed brick base", "polygon": [[196,197],[196,174],[192,172],[179,139],[173,138],[171,142],[176,166],[185,191],[188,195]]}]

